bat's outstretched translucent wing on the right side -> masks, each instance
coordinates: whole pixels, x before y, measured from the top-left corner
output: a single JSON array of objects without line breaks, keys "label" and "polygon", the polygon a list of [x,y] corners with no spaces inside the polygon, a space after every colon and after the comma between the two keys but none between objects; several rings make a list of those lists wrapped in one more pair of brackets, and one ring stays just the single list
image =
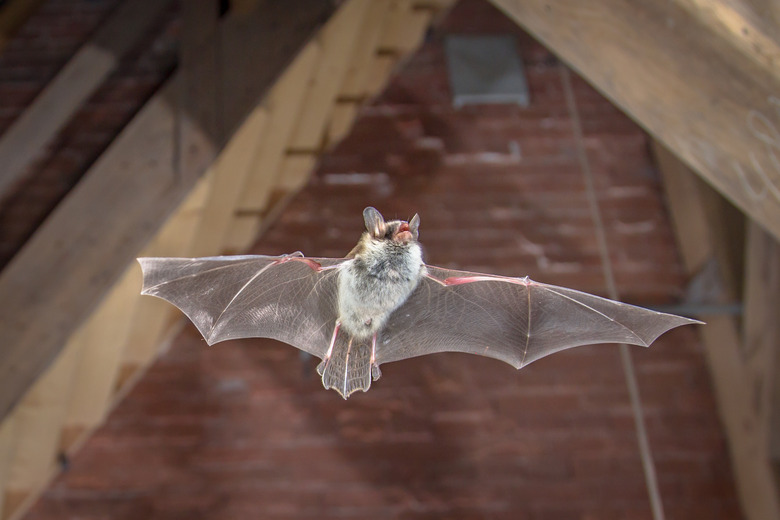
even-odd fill
[{"label": "bat's outstretched translucent wing on the right side", "polygon": [[382,331],[377,364],[466,352],[522,368],[580,345],[649,346],[670,329],[700,323],[528,278],[427,269]]}]

